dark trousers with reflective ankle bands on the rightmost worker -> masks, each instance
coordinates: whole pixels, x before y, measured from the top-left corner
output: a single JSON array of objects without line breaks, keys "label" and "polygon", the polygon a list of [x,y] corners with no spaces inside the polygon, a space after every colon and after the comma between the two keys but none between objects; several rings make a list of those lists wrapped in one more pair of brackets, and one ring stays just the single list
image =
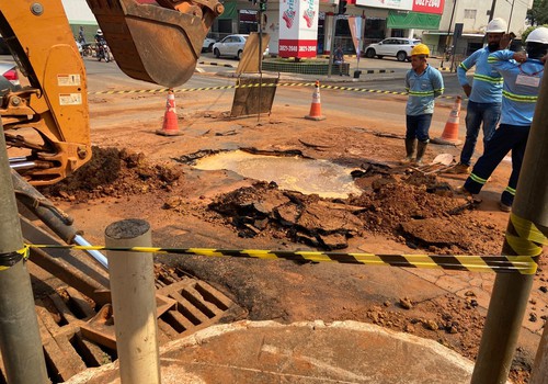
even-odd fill
[{"label": "dark trousers with reflective ankle bands on the rightmost worker", "polygon": [[483,156],[473,166],[472,172],[465,182],[465,189],[473,194],[479,193],[504,156],[512,150],[512,174],[509,185],[501,195],[501,202],[512,206],[529,128],[529,126],[501,124],[488,142]]}]

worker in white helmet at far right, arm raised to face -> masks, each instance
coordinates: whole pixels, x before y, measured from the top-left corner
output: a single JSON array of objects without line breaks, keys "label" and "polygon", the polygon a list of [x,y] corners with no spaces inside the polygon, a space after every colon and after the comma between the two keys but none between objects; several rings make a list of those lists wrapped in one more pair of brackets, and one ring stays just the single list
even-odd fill
[{"label": "worker in white helmet at far right, arm raised to face", "polygon": [[[501,45],[504,46],[506,42],[510,43],[510,35],[505,34]],[[525,43],[526,53],[504,49],[489,55],[489,64],[504,78],[501,124],[461,187],[463,192],[479,193],[494,169],[512,150],[512,174],[499,202],[503,212],[510,212],[514,202],[525,146],[548,57],[548,29],[537,27],[529,33]]]}]

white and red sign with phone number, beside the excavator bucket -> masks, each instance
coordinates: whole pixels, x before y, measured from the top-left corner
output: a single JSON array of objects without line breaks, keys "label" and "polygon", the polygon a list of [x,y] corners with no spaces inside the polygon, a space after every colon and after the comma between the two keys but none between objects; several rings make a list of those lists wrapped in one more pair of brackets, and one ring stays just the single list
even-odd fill
[{"label": "white and red sign with phone number, beside the excavator bucket", "polygon": [[319,8],[319,0],[281,1],[279,56],[316,57]]}]

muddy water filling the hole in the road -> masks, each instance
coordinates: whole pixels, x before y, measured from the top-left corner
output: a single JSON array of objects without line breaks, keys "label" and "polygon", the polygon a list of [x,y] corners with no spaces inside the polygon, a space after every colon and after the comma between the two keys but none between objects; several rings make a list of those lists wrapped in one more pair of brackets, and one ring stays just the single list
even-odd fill
[{"label": "muddy water filling the hole in the road", "polygon": [[350,176],[350,168],[327,160],[251,155],[236,150],[202,158],[195,168],[227,169],[246,178],[274,181],[283,190],[317,193],[321,197],[345,199],[351,193],[362,193]]}]

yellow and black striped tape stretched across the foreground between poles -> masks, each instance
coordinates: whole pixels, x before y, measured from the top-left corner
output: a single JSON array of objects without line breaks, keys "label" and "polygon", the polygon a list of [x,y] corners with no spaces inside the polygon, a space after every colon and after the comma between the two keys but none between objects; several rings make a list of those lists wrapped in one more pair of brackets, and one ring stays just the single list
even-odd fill
[{"label": "yellow and black striped tape stretched across the foreground between poles", "polygon": [[534,274],[536,258],[530,256],[449,256],[449,255],[375,255],[357,252],[284,251],[263,249],[214,248],[107,248],[94,246],[27,245],[30,248],[64,248],[80,250],[110,250],[150,253],[197,255],[206,257],[235,257],[261,260],[292,260],[336,262],[361,266],[389,266],[403,268],[430,268],[452,271]]}]

